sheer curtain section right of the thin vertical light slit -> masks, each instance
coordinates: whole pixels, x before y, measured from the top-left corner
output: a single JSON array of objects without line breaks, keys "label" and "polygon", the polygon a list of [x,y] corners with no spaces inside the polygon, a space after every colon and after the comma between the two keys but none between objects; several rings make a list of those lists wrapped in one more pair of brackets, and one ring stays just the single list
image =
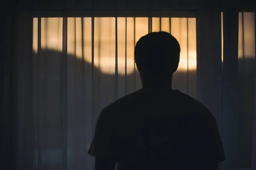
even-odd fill
[{"label": "sheer curtain section right of the thin vertical light slit", "polygon": [[[254,159],[255,14],[223,13],[223,169],[251,169]],[[254,149],[255,150],[255,149]],[[254,153],[255,154],[255,153]]]}]

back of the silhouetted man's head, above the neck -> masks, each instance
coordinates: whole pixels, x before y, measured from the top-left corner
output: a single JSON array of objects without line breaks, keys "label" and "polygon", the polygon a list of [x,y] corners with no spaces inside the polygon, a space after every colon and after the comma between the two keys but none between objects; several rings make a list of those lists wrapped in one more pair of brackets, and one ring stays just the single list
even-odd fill
[{"label": "back of the silhouetted man's head, above the neck", "polygon": [[151,32],[141,37],[134,48],[137,69],[143,73],[171,73],[180,59],[180,44],[168,32]]}]

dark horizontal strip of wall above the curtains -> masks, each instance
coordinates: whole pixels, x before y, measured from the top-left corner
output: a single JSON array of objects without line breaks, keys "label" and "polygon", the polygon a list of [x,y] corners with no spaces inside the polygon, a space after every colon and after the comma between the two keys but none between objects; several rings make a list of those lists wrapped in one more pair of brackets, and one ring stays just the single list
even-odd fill
[{"label": "dark horizontal strip of wall above the curtains", "polygon": [[239,9],[254,10],[254,0],[241,0],[230,3],[230,0],[15,0],[20,8],[34,10],[207,10]]}]

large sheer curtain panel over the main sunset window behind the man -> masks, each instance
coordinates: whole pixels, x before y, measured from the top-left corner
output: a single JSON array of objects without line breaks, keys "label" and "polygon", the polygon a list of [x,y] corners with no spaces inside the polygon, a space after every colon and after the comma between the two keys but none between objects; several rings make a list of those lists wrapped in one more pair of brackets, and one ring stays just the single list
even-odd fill
[{"label": "large sheer curtain panel over the main sunset window behind the man", "polygon": [[99,112],[142,87],[134,45],[159,30],[181,45],[173,88],[196,98],[195,18],[34,18],[32,57],[22,60],[32,76],[23,78],[24,65],[17,73],[19,168],[92,170],[87,150]]}]

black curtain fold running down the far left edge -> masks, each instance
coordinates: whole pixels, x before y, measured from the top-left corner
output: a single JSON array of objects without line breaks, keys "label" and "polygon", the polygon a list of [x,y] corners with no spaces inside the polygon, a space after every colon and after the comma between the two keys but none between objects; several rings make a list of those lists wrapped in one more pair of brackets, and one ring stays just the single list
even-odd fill
[{"label": "black curtain fold running down the far left edge", "polygon": [[[15,76],[14,60],[16,59],[17,43],[17,13],[15,6],[10,5],[7,1],[1,3],[1,14],[5,15],[2,21],[1,31],[1,59],[0,59],[0,169],[14,169],[16,165],[16,150],[14,148],[15,138],[13,131],[15,122],[14,98],[15,91],[13,77]],[[6,12],[7,11],[7,12]]]}]

